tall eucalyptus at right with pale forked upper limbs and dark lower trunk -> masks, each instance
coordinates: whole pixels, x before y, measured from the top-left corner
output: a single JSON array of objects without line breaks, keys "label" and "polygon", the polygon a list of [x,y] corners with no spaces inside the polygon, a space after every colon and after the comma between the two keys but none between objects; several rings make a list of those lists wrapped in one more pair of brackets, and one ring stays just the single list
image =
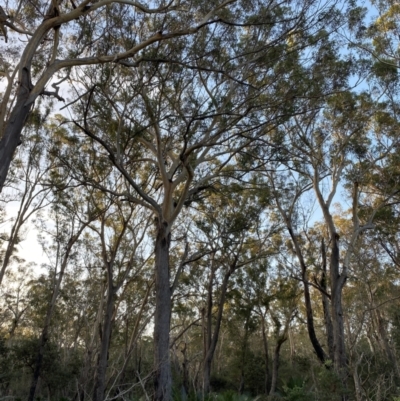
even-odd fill
[{"label": "tall eucalyptus at right with pale forked upper limbs and dark lower trunk", "polygon": [[[312,191],[315,202],[324,219],[324,230],[328,233],[325,243],[322,243],[320,262],[323,266],[329,257],[329,292],[326,287],[316,285],[330,302],[330,319],[332,332],[333,362],[340,373],[342,382],[347,378],[347,356],[345,349],[345,330],[343,310],[343,289],[349,276],[351,256],[359,236],[374,227],[373,221],[379,210],[384,208],[390,197],[382,198],[371,207],[364,208],[364,203],[371,204],[364,184],[371,171],[383,163],[395,149],[395,142],[383,140],[379,129],[379,115],[385,104],[376,104],[366,93],[355,94],[343,91],[327,98],[321,111],[310,111],[294,117],[282,129],[285,136],[285,155],[281,162],[271,164],[273,172],[267,176],[272,185],[277,207],[287,221],[296,253],[301,265],[306,266],[305,244],[308,227],[299,227],[293,231],[292,220],[286,210],[293,213],[301,212],[302,195]],[[383,151],[383,142],[386,150]],[[277,185],[279,175],[291,176],[290,186],[293,195],[288,203],[283,199],[281,187]],[[350,234],[341,238],[338,222],[335,220],[334,199],[340,186],[346,188],[346,196],[351,204]],[[285,187],[285,184],[282,188]],[[329,189],[328,189],[329,187]],[[304,197],[303,197],[304,200]],[[321,236],[323,237],[323,236]],[[343,245],[340,246],[340,243]],[[326,244],[326,245],[325,245]],[[342,251],[340,250],[342,248]],[[326,250],[327,249],[327,250]],[[322,267],[324,272],[326,268]],[[304,271],[304,268],[303,268]],[[323,273],[324,274],[324,273]],[[302,277],[303,282],[307,280]],[[326,301],[326,298],[324,298]],[[345,395],[343,395],[346,398]]]}]

